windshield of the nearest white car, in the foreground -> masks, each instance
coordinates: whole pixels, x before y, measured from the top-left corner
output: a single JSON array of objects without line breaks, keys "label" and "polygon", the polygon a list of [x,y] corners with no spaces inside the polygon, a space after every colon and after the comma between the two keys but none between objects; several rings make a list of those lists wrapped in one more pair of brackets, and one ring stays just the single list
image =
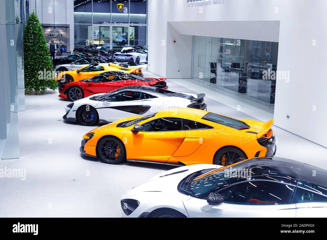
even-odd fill
[{"label": "windshield of the nearest white car, in the foreground", "polygon": [[180,183],[180,189],[197,197],[200,195],[209,194],[210,192],[215,192],[219,188],[238,182],[240,178],[243,178],[244,175],[241,174],[232,176],[234,172],[229,171],[229,169],[232,167],[233,170],[243,170],[249,168],[250,166],[254,166],[255,163],[249,164],[250,160],[251,159],[247,159],[226,167],[216,168],[204,174],[201,174],[201,172],[192,173],[188,176],[188,178],[184,179]]}]

